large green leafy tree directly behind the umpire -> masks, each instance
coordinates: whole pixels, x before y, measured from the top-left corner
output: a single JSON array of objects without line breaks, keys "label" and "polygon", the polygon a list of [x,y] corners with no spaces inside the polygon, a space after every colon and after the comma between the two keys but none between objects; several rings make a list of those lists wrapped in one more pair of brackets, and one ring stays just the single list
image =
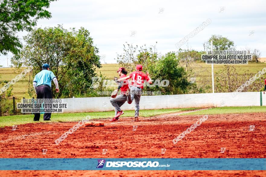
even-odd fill
[{"label": "large green leafy tree directly behind the umpire", "polygon": [[[26,45],[11,62],[16,67],[33,66],[32,82],[40,72],[43,63],[48,63],[58,79],[59,93],[52,90],[55,97],[71,97],[86,93],[96,76],[96,68],[101,67],[98,49],[88,30],[80,28],[66,30],[62,26],[32,30],[23,39]],[[29,85],[29,93],[32,93]]]}]

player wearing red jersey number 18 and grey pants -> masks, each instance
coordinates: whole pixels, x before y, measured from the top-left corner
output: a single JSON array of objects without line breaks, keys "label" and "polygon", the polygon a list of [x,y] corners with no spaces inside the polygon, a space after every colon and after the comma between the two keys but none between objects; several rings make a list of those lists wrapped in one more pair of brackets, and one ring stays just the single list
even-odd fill
[{"label": "player wearing red jersey number 18 and grey pants", "polygon": [[118,79],[118,81],[131,78],[130,94],[128,94],[127,101],[129,104],[131,104],[135,99],[135,121],[140,121],[138,119],[138,115],[141,90],[143,90],[144,81],[149,84],[152,84],[152,81],[148,72],[146,72],[146,74],[142,72],[142,65],[137,65],[136,70],[137,71],[133,71],[131,74],[129,74],[129,76]]}]

